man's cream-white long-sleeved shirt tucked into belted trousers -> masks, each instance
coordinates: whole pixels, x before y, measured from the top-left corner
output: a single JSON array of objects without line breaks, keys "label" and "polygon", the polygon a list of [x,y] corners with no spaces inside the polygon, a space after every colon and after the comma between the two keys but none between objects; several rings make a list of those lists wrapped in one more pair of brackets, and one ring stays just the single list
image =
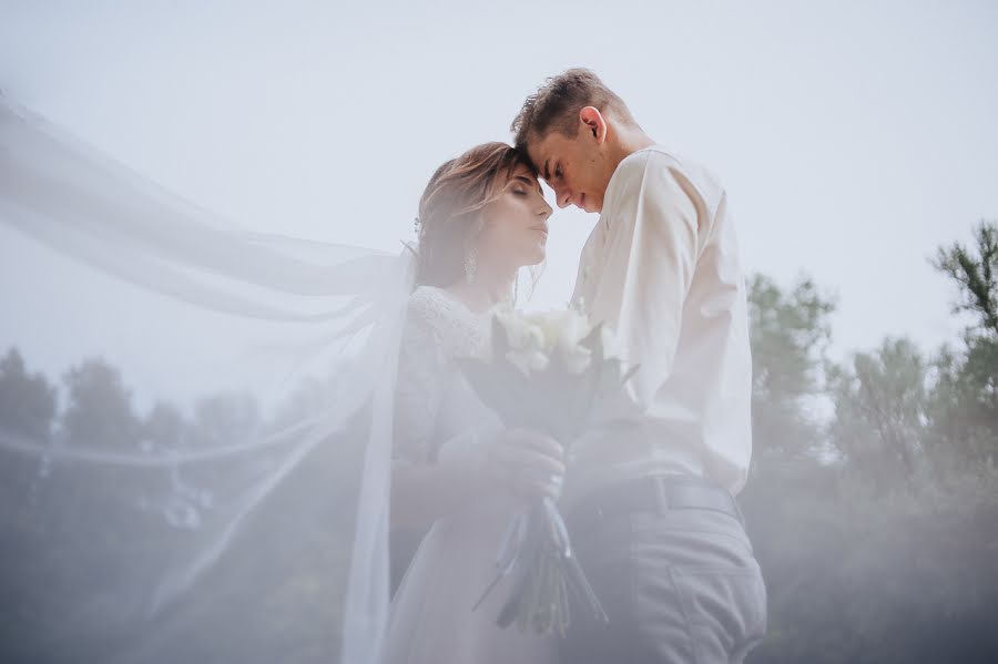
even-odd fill
[{"label": "man's cream-white long-sleeved shirt tucked into belted trousers", "polygon": [[582,251],[573,302],[617,333],[646,408],[570,450],[562,500],[595,484],[690,472],[737,493],[752,454],[745,283],[724,188],[655,145],[624,159]]}]

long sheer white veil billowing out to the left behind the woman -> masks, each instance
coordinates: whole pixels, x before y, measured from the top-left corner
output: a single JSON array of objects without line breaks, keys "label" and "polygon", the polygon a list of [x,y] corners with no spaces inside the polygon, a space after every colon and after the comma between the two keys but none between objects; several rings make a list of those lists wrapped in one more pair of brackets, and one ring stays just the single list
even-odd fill
[{"label": "long sheer white veil billowing out to the left behind the woman", "polygon": [[[143,625],[211,615],[195,606],[225,570],[247,610],[256,583],[298,579],[325,594],[308,595],[318,609],[295,623],[314,621],[329,636],[295,661],[375,662],[389,601],[393,392],[411,252],[241,231],[2,96],[0,226],[99,284],[8,303],[3,319],[24,315],[18,306],[65,308],[68,337],[138,358],[118,367],[135,396],[181,402],[165,411],[180,422],[169,436],[154,431],[152,412],[115,425],[100,394],[128,391],[91,364],[67,375],[52,427],[0,422],[2,463],[24,478],[4,497],[13,533],[4,537],[24,523],[51,535],[6,546],[19,551],[18,570],[41,565],[53,588],[75,583],[40,605],[61,625],[83,625],[104,661],[160,661],[176,643],[156,643]],[[51,277],[47,265],[23,279]],[[165,385],[172,394],[156,394]],[[204,389],[248,394],[228,403],[258,416],[212,436],[208,425],[233,409],[213,420]],[[204,427],[186,426],[197,417]],[[12,601],[37,604],[34,585],[8,582]],[[204,620],[202,636],[214,629]]]}]

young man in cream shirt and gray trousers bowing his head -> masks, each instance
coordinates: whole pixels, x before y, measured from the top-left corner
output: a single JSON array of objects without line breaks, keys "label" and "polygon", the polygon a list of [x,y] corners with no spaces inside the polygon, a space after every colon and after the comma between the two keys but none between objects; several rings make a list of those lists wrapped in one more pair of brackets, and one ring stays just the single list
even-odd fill
[{"label": "young man in cream shirt and gray trousers bowing his head", "polygon": [[628,389],[643,415],[571,448],[561,507],[610,622],[574,607],[563,661],[741,662],[765,634],[766,591],[733,498],[752,359],[725,191],[589,70],[549,79],[512,131],[560,207],[600,214],[573,299],[640,365]]}]

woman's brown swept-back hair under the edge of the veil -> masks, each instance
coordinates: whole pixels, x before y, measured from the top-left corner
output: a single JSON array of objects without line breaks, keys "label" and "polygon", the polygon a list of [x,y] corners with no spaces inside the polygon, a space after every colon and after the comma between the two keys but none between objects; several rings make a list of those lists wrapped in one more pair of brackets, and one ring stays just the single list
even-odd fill
[{"label": "woman's brown swept-back hair under the edge of the veil", "polygon": [[506,143],[483,143],[445,162],[419,200],[416,285],[445,288],[465,278],[481,231],[482,208],[498,198],[517,166],[530,160]]}]

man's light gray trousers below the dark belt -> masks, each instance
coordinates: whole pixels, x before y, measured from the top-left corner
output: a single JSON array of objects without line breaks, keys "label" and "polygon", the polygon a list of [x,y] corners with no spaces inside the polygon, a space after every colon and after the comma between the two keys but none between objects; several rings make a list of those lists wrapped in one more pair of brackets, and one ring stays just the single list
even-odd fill
[{"label": "man's light gray trousers below the dark belt", "polygon": [[729,664],[765,635],[766,589],[737,519],[622,512],[570,534],[610,623],[573,604],[563,664]]}]

